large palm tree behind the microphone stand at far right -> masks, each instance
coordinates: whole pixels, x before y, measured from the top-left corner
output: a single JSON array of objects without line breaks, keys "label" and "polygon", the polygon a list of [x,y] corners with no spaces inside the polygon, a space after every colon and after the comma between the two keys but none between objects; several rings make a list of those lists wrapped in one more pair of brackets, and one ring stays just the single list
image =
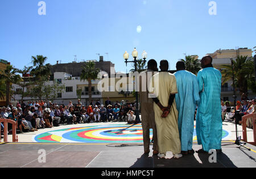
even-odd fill
[{"label": "large palm tree behind the microphone stand at far right", "polygon": [[[248,80],[254,75],[254,62],[252,57],[248,56],[238,56],[236,60],[233,61],[234,68],[234,88],[238,88],[240,95],[245,93],[247,95],[248,91]],[[232,65],[222,65],[222,84],[233,78],[232,75]]]}]

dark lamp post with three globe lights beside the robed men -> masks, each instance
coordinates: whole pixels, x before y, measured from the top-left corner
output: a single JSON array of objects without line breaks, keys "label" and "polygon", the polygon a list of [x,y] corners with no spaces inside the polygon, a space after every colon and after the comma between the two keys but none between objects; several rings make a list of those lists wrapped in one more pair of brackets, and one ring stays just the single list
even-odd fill
[{"label": "dark lamp post with three globe lights beside the robed men", "polygon": [[[129,59],[129,53],[127,53],[127,51],[125,52],[125,54],[123,54],[123,58],[125,59],[126,66],[127,66],[127,63],[134,63],[135,72],[137,72],[137,70],[138,70],[137,69],[138,51],[137,51],[136,48],[134,48],[134,51],[132,52],[132,55],[133,55],[133,58],[134,58],[133,61],[127,61]],[[147,59],[147,52],[146,51],[143,51],[142,58],[144,59],[143,62],[146,63],[146,59]],[[135,78],[135,85],[136,84],[137,84],[137,78]],[[135,89],[137,89],[137,88],[135,88]],[[139,118],[139,97],[138,97],[138,91],[137,90],[135,90],[135,97],[136,97],[135,123],[138,124],[138,123],[141,123],[141,118]]]}]

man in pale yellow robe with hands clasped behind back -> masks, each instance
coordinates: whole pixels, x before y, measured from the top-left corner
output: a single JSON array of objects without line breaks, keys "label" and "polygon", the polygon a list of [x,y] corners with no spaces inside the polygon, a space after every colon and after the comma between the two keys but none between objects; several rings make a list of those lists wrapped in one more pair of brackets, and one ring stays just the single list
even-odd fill
[{"label": "man in pale yellow robe with hands clasped behind back", "polygon": [[175,159],[182,157],[178,129],[178,111],[175,94],[177,84],[174,74],[168,73],[168,61],[160,62],[161,72],[151,78],[149,92],[154,100],[155,123],[158,135],[160,159],[165,159],[166,152],[171,151]]}]

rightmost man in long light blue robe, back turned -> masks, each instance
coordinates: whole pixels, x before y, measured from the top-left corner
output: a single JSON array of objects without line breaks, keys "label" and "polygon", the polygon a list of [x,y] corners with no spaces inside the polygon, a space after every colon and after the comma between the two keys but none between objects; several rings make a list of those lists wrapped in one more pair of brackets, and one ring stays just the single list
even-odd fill
[{"label": "rightmost man in long light blue robe, back turned", "polygon": [[221,152],[221,73],[213,68],[212,57],[201,60],[202,70],[197,74],[200,102],[196,116],[197,143],[203,148],[197,153],[208,153],[210,149]]}]

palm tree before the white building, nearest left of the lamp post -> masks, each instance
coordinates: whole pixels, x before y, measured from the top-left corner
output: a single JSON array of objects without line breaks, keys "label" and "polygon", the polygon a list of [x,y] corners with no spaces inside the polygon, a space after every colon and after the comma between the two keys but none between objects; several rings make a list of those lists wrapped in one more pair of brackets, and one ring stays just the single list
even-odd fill
[{"label": "palm tree before the white building, nearest left of the lamp post", "polygon": [[97,79],[98,73],[100,73],[100,69],[95,68],[95,63],[91,61],[88,63],[84,63],[84,65],[82,66],[80,80],[88,81],[89,103],[92,102],[92,80]]}]

